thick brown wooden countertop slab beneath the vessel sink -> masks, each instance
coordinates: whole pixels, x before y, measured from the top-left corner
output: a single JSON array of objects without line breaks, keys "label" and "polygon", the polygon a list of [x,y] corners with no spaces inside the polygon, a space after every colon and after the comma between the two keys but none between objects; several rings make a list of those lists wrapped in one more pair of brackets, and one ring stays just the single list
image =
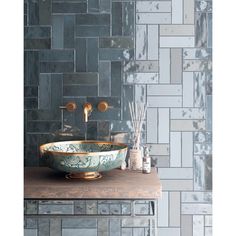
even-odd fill
[{"label": "thick brown wooden countertop slab beneath the vessel sink", "polygon": [[161,184],[156,169],[151,174],[114,169],[94,181],[66,179],[46,167],[24,170],[25,199],[156,199]]}]

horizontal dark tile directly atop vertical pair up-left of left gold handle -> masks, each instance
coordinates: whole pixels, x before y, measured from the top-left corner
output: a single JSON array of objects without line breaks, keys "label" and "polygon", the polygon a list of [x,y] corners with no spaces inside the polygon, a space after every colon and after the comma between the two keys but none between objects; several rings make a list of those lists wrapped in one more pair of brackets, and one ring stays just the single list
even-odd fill
[{"label": "horizontal dark tile directly atop vertical pair up-left of left gold handle", "polygon": [[41,73],[73,72],[74,62],[40,62]]}]

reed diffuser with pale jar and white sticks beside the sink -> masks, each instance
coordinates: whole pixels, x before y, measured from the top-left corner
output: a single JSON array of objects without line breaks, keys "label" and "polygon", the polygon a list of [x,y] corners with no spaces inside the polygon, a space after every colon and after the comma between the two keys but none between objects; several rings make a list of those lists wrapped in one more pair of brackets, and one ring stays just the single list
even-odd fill
[{"label": "reed diffuser with pale jar and white sticks beside the sink", "polygon": [[141,130],[147,106],[144,103],[129,103],[131,124],[133,128],[133,146],[130,149],[130,169],[142,170]]}]

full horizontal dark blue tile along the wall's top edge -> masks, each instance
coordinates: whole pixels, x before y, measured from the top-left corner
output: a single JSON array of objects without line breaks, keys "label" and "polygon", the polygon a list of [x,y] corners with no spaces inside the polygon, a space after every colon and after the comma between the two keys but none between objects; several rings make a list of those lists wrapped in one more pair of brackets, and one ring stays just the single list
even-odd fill
[{"label": "full horizontal dark blue tile along the wall's top edge", "polygon": [[53,13],[86,13],[87,4],[84,2],[53,2]]}]

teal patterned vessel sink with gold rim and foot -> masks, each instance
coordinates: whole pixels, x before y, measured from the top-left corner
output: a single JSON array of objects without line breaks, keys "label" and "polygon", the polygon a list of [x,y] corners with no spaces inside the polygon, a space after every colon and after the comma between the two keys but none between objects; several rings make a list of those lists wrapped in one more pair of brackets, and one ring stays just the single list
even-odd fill
[{"label": "teal patterned vessel sink with gold rim and foot", "polygon": [[93,180],[99,172],[120,167],[125,161],[127,145],[104,141],[62,141],[40,146],[47,165],[68,173],[67,178]]}]

